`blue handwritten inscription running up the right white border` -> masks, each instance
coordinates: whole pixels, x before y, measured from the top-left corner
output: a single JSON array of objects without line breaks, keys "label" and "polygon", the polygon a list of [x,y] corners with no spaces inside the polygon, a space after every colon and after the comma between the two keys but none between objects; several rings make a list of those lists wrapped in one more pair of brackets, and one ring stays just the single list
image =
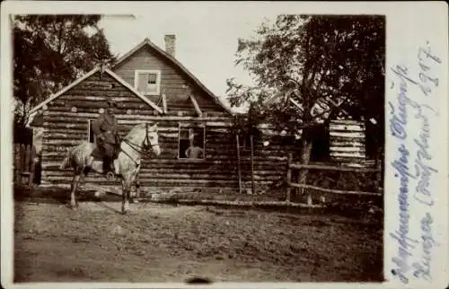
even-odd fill
[{"label": "blue handwritten inscription running up the right white border", "polygon": [[[431,184],[438,170],[431,164],[431,124],[435,120],[433,118],[438,117],[438,111],[428,104],[419,103],[418,98],[421,93],[430,96],[438,87],[438,76],[433,69],[438,64],[441,64],[441,59],[432,53],[427,42],[427,48],[418,48],[418,77],[414,77],[408,66],[398,65],[391,68],[399,82],[397,106],[389,102],[390,134],[398,144],[395,160],[391,165],[394,176],[400,181],[399,228],[390,232],[390,236],[398,244],[397,255],[392,258],[395,267],[392,269],[392,275],[404,284],[409,283],[409,273],[416,279],[432,280],[432,248],[436,246],[436,241],[431,230],[434,220],[428,209],[435,203]],[[391,88],[395,86],[392,84]],[[418,88],[418,93],[414,92],[414,87]],[[415,157],[414,153],[410,153],[413,151],[416,152]],[[411,183],[415,183],[415,186]],[[427,211],[420,219],[421,233],[416,237],[413,233],[414,222],[411,220],[412,208],[415,205],[413,201],[416,201],[415,204],[424,205]],[[422,247],[422,250],[418,247]]]}]

